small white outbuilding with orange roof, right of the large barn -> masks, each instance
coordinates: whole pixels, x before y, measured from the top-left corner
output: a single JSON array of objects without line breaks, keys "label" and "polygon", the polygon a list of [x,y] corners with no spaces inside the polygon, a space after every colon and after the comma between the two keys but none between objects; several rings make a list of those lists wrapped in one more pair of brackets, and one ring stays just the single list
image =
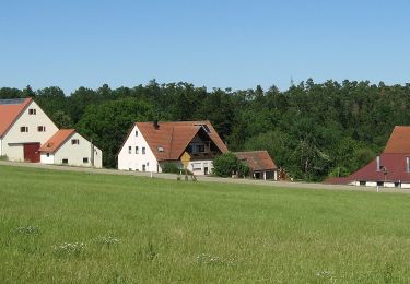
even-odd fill
[{"label": "small white outbuilding with orange roof, right of the large barn", "polygon": [[99,149],[75,129],[60,129],[38,150],[43,164],[103,167]]}]

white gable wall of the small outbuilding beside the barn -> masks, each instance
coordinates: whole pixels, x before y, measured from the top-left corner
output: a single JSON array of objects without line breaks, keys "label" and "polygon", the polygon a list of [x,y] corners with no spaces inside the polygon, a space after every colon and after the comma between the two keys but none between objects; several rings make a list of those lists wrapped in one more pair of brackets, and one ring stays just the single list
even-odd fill
[{"label": "white gable wall of the small outbuilding beside the barn", "polygon": [[[80,143],[73,145],[71,143],[72,139],[78,139]],[[72,134],[56,153],[54,153],[54,164],[62,164],[62,159],[67,158],[68,165],[70,166],[91,167],[91,142],[74,132],[74,134]],[[87,163],[83,163],[83,158],[87,158]],[[94,167],[103,167],[103,153],[96,146],[94,146]]]}]

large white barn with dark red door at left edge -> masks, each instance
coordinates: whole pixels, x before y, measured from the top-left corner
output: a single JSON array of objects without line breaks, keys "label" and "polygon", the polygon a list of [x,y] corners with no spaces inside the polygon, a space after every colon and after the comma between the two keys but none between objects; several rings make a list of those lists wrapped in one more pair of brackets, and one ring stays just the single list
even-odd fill
[{"label": "large white barn with dark red door at left edge", "polygon": [[0,99],[0,156],[38,163],[38,149],[57,130],[32,98]]}]

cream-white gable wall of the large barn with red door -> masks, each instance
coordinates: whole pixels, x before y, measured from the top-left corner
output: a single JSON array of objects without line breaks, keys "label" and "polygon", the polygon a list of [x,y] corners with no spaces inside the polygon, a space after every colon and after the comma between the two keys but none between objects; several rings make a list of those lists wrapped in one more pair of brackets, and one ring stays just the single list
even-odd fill
[{"label": "cream-white gable wall of the large barn with red door", "polygon": [[[36,109],[36,115],[28,115],[28,109]],[[37,127],[45,126],[45,132],[38,132]],[[28,127],[28,132],[20,132],[20,127]],[[10,161],[23,161],[23,145],[13,145],[13,143],[45,143],[54,133],[57,132],[56,125],[47,117],[39,106],[32,102],[14,125],[4,134],[2,141],[2,155],[7,155]]]}]

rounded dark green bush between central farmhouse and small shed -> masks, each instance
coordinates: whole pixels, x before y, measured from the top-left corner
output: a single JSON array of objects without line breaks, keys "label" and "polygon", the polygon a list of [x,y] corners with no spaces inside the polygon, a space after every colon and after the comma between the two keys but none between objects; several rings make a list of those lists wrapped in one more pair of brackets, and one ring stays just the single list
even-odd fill
[{"label": "rounded dark green bush between central farmhouse and small shed", "polygon": [[232,174],[246,176],[249,167],[242,162],[234,153],[227,152],[213,161],[213,173],[220,177],[231,177]]}]

